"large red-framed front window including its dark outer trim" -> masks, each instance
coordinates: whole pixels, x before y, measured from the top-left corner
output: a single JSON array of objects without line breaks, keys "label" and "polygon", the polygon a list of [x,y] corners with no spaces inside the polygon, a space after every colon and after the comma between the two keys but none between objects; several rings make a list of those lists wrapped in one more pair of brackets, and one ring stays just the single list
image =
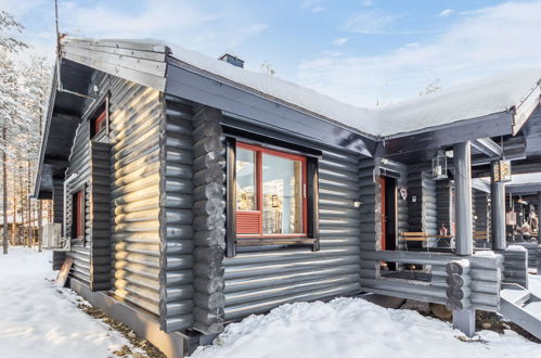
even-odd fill
[{"label": "large red-framed front window including its dark outer trim", "polygon": [[[228,255],[236,246],[313,245],[317,159],[260,144],[228,142]],[[231,213],[233,212],[233,213]]]}]

